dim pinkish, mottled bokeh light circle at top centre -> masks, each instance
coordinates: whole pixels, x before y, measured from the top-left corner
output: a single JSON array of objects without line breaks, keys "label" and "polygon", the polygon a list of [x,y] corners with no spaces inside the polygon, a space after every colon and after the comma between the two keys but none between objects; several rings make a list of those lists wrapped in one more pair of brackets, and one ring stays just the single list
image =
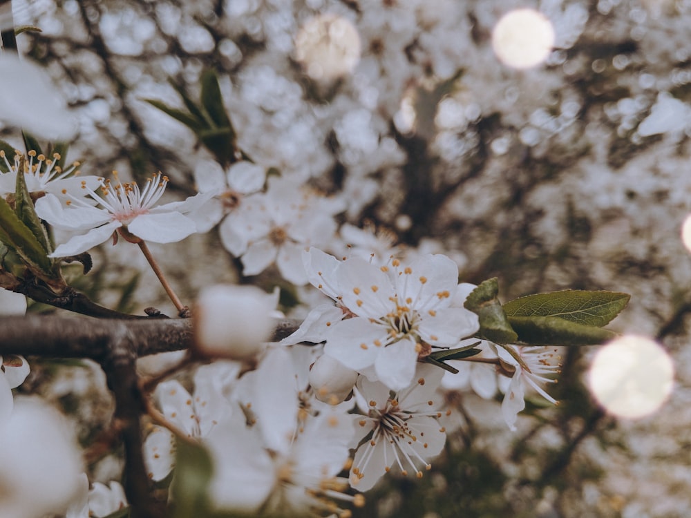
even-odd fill
[{"label": "dim pinkish, mottled bokeh light circle at top centre", "polygon": [[357,28],[337,15],[310,18],[295,37],[295,59],[318,81],[351,73],[360,60],[360,51]]}]

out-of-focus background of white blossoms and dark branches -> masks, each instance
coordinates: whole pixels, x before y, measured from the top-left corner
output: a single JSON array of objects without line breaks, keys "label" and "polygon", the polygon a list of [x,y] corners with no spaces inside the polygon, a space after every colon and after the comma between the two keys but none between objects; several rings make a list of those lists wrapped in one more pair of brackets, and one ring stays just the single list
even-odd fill
[{"label": "out-of-focus background of white blossoms and dark branches", "polygon": [[[498,29],[514,8],[537,15],[519,22],[536,23],[535,41],[518,45],[518,29]],[[689,515],[690,1],[15,0],[12,9],[15,26],[42,31],[19,35],[19,50],[75,110],[68,160],[84,174],[160,170],[171,197],[196,192],[193,171],[209,152],[144,99],[183,108],[178,90],[197,99],[211,68],[239,148],[343,193],[343,221],[446,253],[467,282],[497,276],[504,301],[625,291],[630,305],[610,327],[657,338],[672,356],[672,396],[642,419],[594,403],[584,373],[596,347],[563,352],[551,391],[561,404],[529,402],[518,432],[500,400],[451,394],[457,431],[430,476],[386,479],[357,516]],[[21,144],[11,128],[0,138]],[[175,250],[164,268],[186,296],[238,278],[214,230]],[[93,255],[80,288],[123,311],[168,309],[143,258],[121,247]],[[21,390],[42,387],[86,442],[108,419],[104,390],[88,390],[100,374],[34,365]],[[117,469],[117,459],[92,466],[104,480]]]}]

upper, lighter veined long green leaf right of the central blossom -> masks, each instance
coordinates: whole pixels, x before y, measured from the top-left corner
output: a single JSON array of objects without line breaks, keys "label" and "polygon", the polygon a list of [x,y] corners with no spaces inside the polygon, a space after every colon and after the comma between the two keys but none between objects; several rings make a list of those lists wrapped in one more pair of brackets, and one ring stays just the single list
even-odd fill
[{"label": "upper, lighter veined long green leaf right of the central blossom", "polygon": [[504,304],[507,316],[553,316],[583,325],[603,327],[629,303],[616,291],[565,289],[516,298]]}]

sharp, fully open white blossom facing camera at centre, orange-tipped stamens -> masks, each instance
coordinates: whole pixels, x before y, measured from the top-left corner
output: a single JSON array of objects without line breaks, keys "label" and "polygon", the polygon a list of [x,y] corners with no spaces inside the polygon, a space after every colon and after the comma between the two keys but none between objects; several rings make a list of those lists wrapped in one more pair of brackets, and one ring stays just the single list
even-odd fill
[{"label": "sharp, fully open white blossom facing camera at centre, orange-tipped stamens", "polygon": [[359,257],[334,265],[313,250],[307,256],[308,278],[335,296],[345,315],[323,323],[327,313],[320,309],[311,332],[321,326],[325,354],[392,390],[410,385],[419,357],[477,331],[477,315],[456,296],[458,268],[446,256],[421,256],[410,265],[393,259],[382,267]]}]

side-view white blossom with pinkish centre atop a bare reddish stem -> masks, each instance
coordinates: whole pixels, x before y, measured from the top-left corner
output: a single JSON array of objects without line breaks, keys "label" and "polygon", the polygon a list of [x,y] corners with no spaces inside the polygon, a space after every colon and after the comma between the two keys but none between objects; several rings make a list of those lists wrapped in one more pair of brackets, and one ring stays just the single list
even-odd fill
[{"label": "side-view white blossom with pinkish centre atop a bare reddish stem", "polygon": [[74,196],[65,207],[55,195],[46,194],[36,202],[39,217],[58,229],[82,232],[60,244],[50,257],[75,256],[105,242],[115,231],[129,239],[157,243],[187,238],[197,231],[197,226],[185,214],[200,207],[210,195],[199,193],[183,202],[156,207],[167,184],[168,178],[161,173],[149,178],[144,189],[135,182],[118,180],[116,184],[100,178],[98,194],[86,183],[82,184],[84,192],[102,208]]}]

